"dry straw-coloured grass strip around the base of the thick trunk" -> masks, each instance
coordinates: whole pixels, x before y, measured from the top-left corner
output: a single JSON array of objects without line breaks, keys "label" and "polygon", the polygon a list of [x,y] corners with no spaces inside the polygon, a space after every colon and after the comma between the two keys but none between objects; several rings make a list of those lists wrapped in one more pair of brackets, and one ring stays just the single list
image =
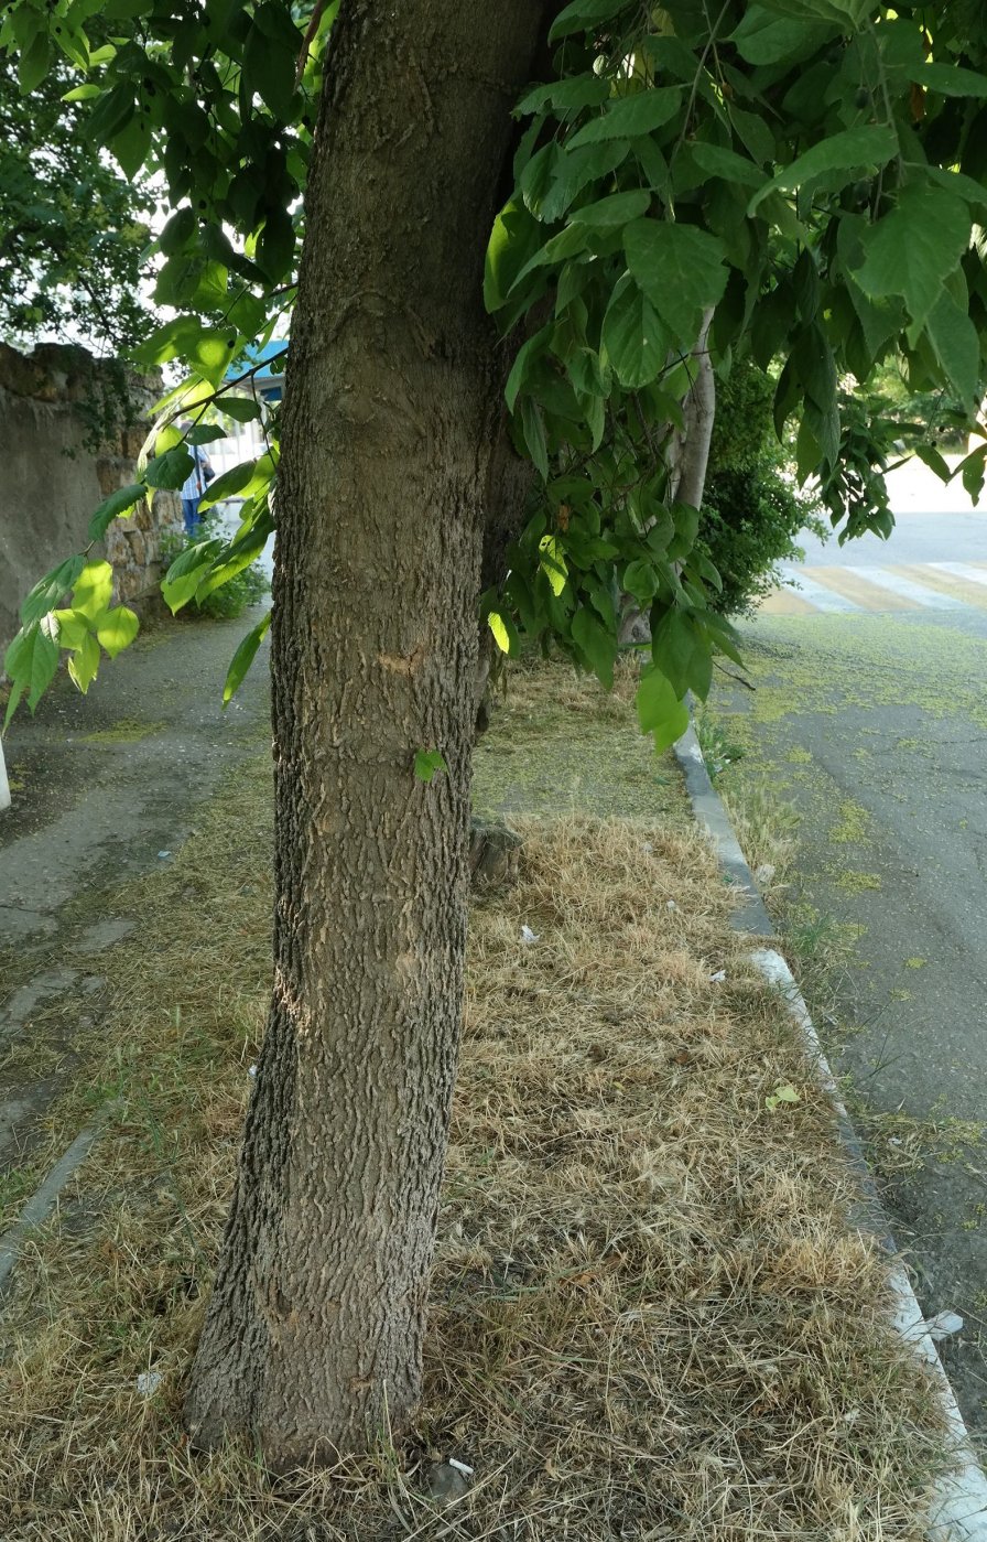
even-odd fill
[{"label": "dry straw-coloured grass strip around the base of the thick trunk", "polygon": [[[264,1016],[265,794],[262,768],[242,777],[236,819],[214,808],[147,882],[111,1015],[77,1045],[93,1079],[52,1149],[94,1106],[108,1123],[6,1314],[5,1542],[918,1539],[935,1399],[845,1221],[811,1069],[685,825],[532,827],[520,885],[475,907],[415,1429],[278,1485],[248,1453],[187,1451]],[[771,1113],[779,1082],[800,1103]],[[449,1456],[477,1476],[438,1513],[423,1473]]]}]

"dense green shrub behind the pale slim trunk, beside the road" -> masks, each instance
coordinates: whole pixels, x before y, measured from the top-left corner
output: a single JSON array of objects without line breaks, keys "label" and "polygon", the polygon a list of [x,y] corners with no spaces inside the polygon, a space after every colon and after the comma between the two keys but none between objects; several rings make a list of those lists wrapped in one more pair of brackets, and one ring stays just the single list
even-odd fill
[{"label": "dense green shrub behind the pale slim trunk, beside the road", "polygon": [[716,609],[726,615],[750,612],[776,586],[777,564],[805,555],[800,530],[825,532],[816,501],[787,475],[773,396],[774,381],[751,362],[717,382],[700,546],[723,580]]}]

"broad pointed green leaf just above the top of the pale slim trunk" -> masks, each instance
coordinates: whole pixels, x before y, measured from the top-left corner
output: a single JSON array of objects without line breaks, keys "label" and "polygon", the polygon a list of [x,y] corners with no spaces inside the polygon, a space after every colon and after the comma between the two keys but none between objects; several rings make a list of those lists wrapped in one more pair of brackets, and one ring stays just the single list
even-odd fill
[{"label": "broad pointed green leaf just above the top of the pale slim trunk", "polygon": [[637,219],[623,233],[628,267],[672,338],[691,348],[702,313],[726,288],[723,247],[705,230]]}]

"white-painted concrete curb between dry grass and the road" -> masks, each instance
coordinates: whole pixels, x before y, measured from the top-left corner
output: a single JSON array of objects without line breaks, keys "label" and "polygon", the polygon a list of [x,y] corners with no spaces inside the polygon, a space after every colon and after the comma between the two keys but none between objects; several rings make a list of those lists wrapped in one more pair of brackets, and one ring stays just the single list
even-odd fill
[{"label": "white-painted concrete curb between dry grass and the road", "polygon": [[[703,752],[699,746],[692,725],[689,725],[675,745],[675,756],[685,776],[686,793],[689,794],[689,802],[692,803],[696,817],[705,827],[723,871],[743,890],[743,902],[733,917],[734,927],[739,931],[750,931],[754,936],[773,939],[774,928],[771,925],[771,917],[768,916],[763,899],[760,897],[746,857],[740,850],[740,842],[737,840],[726,810],[720,802],[720,796],[709,779],[706,762],[703,760]],[[853,1129],[850,1115],[847,1113],[844,1101],[839,1095],[836,1079],[830,1070],[830,1062],[822,1050],[822,1044],[819,1042],[819,1035],[816,1033],[816,1027],[802,998],[802,992],[799,990],[788,964],[776,948],[756,948],[751,953],[751,961],[768,984],[785,998],[785,1004],[799,1029],[802,1041],[811,1059],[817,1066],[819,1079],[828,1093],[836,1113],[840,1143],[847,1149],[853,1167],[861,1177],[868,1210],[867,1224],[876,1231],[882,1244],[891,1255],[888,1283],[894,1303],[893,1325],[905,1343],[911,1345],[915,1352],[928,1365],[939,1388],[939,1399],[950,1433],[950,1446],[956,1462],[956,1470],[950,1474],[950,1477],[944,1479],[936,1486],[931,1496],[931,1513],[928,1517],[927,1536],[930,1542],[987,1542],[987,1477],[984,1476],[984,1470],[976,1459],[970,1434],[962,1420],[962,1414],[959,1412],[953,1388],[950,1386],[948,1377],[942,1368],[939,1352],[925,1329],[922,1309],[916,1300],[915,1291],[911,1289],[911,1283],[901,1261],[901,1255],[894,1246],[890,1224],[878,1198],[878,1190],[864,1156],[861,1140]]]}]

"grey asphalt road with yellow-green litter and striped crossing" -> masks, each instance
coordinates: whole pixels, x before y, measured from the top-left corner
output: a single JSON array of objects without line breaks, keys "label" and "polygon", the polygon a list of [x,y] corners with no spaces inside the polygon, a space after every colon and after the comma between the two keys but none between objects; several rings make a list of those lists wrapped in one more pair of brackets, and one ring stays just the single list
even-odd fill
[{"label": "grey asphalt road with yellow-green litter and striped crossing", "polygon": [[[742,626],[723,773],[800,816],[777,891],[803,967],[845,948],[828,1050],[871,1136],[927,1315],[987,1431],[987,512],[905,512],[890,543],[807,543]],[[822,1001],[822,996],[820,996]],[[827,1022],[820,1027],[827,1033]]]}]

